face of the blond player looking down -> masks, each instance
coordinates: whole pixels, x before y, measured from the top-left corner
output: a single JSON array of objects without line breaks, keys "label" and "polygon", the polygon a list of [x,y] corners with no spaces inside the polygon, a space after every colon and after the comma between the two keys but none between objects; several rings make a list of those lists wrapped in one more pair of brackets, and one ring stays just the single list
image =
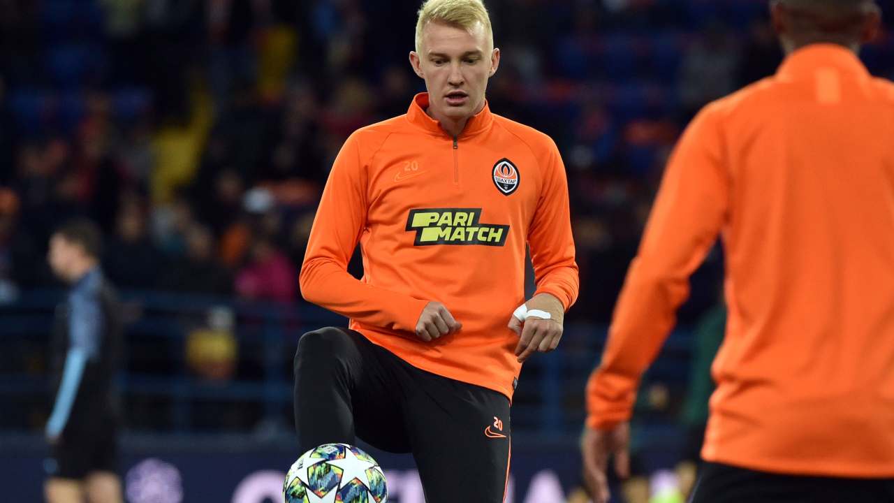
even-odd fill
[{"label": "face of the blond player looking down", "polygon": [[481,111],[487,80],[500,64],[500,49],[491,47],[484,25],[468,31],[429,22],[420,50],[411,52],[409,60],[426,81],[431,115],[463,119]]}]

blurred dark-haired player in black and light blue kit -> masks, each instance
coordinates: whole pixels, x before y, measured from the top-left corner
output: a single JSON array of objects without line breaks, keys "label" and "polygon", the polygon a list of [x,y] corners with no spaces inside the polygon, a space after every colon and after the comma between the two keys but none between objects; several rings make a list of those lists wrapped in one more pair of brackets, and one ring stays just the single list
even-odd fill
[{"label": "blurred dark-haired player in black and light blue kit", "polygon": [[53,449],[46,460],[49,503],[122,501],[115,474],[118,424],[114,373],[121,337],[120,308],[99,269],[101,234],[72,220],[50,237],[48,261],[72,285],[56,310],[53,354],[55,405],[46,423]]}]

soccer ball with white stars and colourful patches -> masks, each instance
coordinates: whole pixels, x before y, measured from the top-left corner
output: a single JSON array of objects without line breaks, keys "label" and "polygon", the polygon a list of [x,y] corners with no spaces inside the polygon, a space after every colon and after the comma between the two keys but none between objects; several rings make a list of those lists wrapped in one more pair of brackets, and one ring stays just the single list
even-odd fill
[{"label": "soccer ball with white stars and colourful patches", "polygon": [[382,468],[363,450],[324,444],[301,455],[286,473],[286,503],[385,503]]}]

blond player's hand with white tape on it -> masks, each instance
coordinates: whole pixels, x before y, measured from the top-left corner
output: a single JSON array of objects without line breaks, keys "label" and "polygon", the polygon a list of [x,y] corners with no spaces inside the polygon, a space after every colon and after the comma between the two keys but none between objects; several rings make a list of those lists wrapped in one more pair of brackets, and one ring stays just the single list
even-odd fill
[{"label": "blond player's hand with white tape on it", "polygon": [[550,313],[550,320],[530,317],[520,321],[510,316],[509,328],[519,334],[519,345],[515,347],[515,355],[519,362],[527,360],[535,352],[549,353],[559,345],[562,334],[562,322],[565,308],[559,299],[551,294],[536,294],[525,303],[528,311],[540,310]]}]

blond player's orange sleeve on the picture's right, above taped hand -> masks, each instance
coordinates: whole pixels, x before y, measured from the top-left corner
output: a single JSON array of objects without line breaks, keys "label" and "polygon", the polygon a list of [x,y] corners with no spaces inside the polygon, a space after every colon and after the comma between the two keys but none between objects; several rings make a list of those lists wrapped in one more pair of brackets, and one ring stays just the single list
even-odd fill
[{"label": "blond player's orange sleeve on the picture's right, above taped hand", "polygon": [[552,294],[565,311],[578,299],[578,264],[574,261],[568,178],[559,149],[550,141],[544,169],[544,187],[527,243],[534,266],[536,294]]}]

